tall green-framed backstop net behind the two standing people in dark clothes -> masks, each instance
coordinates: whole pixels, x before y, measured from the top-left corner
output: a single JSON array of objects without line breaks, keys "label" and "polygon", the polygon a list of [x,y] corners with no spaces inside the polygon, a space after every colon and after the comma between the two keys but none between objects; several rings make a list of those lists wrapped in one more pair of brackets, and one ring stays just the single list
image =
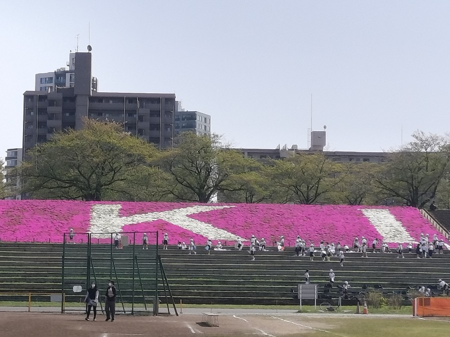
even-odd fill
[{"label": "tall green-framed backstop net behind the two standing people in dark clothes", "polygon": [[117,291],[116,313],[151,313],[158,303],[158,233],[64,234],[62,253],[61,312],[85,311],[84,298],[95,283],[97,310],[104,309],[108,281]]}]

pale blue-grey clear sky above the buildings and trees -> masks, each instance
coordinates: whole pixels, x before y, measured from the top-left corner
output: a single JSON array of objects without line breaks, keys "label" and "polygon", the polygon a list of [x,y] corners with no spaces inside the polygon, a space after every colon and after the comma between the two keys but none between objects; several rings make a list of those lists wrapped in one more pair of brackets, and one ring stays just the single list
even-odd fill
[{"label": "pale blue-grey clear sky above the buildings and trees", "polygon": [[[0,156],[34,74],[92,45],[99,91],[175,92],[235,147],[387,151],[450,124],[450,1],[2,3]],[[90,41],[88,40],[90,23]]]}]

